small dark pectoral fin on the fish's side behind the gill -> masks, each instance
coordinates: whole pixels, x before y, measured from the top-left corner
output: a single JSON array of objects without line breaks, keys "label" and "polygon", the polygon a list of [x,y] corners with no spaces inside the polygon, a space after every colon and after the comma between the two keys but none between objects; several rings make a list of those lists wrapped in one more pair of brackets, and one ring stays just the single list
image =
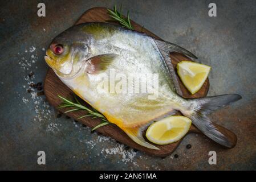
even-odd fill
[{"label": "small dark pectoral fin on the fish's side behind the gill", "polygon": [[85,71],[90,74],[99,73],[108,68],[108,65],[119,55],[115,53],[106,53],[103,55],[97,55],[86,60]]}]

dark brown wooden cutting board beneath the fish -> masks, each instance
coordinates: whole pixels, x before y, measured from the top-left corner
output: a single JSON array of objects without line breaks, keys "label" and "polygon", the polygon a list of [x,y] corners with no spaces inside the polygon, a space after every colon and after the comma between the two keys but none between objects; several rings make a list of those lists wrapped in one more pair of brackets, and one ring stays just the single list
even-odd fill
[{"label": "dark brown wooden cutting board beneath the fish", "polygon": [[[85,23],[85,22],[107,22],[107,23],[117,24],[116,22],[113,22],[113,20],[109,17],[109,15],[107,14],[107,9],[105,9],[104,7],[95,7],[90,10],[87,10],[79,18],[76,24]],[[158,36],[148,31],[147,29],[141,27],[139,24],[133,21],[131,21],[131,23],[136,31],[145,32],[150,36],[160,39]],[[179,55],[178,53],[172,53],[170,57],[172,59],[172,64],[174,65],[174,68],[176,68],[176,65],[178,62],[182,60],[190,60],[188,57]],[[178,81],[180,82],[182,97],[184,98],[205,97],[208,93],[209,85],[210,85],[208,79],[205,81],[202,88],[196,94],[193,94],[193,96],[185,88],[182,82],[180,80]],[[51,105],[56,107],[56,109],[58,109],[58,106],[61,103],[60,99],[58,98],[58,95],[63,96],[65,98],[72,98],[72,95],[74,94],[66,85],[63,84],[62,81],[59,80],[59,78],[55,75],[52,69],[49,69],[49,71],[47,72],[46,78],[44,80],[44,93],[46,94],[46,98],[48,102],[50,102]],[[88,104],[86,104],[86,102],[84,102],[84,104],[90,107]],[[58,109],[58,110],[64,113],[64,111],[68,109]],[[84,115],[85,113],[86,113],[85,111],[74,111],[74,112],[67,113],[67,115],[73,119],[77,119],[80,116]],[[82,119],[78,119],[78,121],[89,127],[95,127],[100,123],[100,119],[91,119],[91,118],[82,118]],[[137,150],[144,151],[147,154],[157,155],[157,156],[166,156],[171,154],[182,140],[181,139],[178,142],[175,142],[172,144],[166,144],[162,146],[156,145],[157,147],[160,148],[160,150],[152,150],[152,149],[140,146],[139,144],[133,142],[133,140],[130,139],[116,125],[113,125],[113,124],[106,125],[106,126],[100,127],[99,129],[97,129],[97,131],[105,136],[112,137],[113,139],[116,139],[119,142],[126,144],[127,146],[136,148]],[[196,127],[192,125],[190,127],[189,132],[186,135],[188,135],[189,133],[200,133],[200,131],[197,130]]]}]

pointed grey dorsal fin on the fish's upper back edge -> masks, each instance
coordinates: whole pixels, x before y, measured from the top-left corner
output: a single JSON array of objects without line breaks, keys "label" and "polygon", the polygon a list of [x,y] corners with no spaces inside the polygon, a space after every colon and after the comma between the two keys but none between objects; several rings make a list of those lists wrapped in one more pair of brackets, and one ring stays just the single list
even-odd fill
[{"label": "pointed grey dorsal fin on the fish's upper back edge", "polygon": [[170,54],[170,52],[177,52],[177,53],[181,53],[185,56],[192,57],[194,59],[197,59],[197,57],[195,55],[193,55],[193,53],[187,51],[186,49],[184,49],[180,46],[177,46],[176,44],[165,42],[162,40],[157,40],[155,38],[153,38],[153,40],[155,41],[157,47],[159,48],[159,51],[161,52],[162,57],[164,58],[165,65],[168,68],[170,77],[172,77],[173,84],[175,86],[177,94],[182,96],[180,85],[178,84],[178,78],[174,71],[174,67],[172,65],[172,60],[170,59],[169,54]]}]

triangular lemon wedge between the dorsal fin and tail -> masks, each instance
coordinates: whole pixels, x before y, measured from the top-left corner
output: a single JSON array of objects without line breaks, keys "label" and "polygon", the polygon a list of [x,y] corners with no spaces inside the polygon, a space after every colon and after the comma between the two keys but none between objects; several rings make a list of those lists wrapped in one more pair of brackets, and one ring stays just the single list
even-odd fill
[{"label": "triangular lemon wedge between the dorsal fin and tail", "polygon": [[191,61],[181,61],[177,64],[178,76],[192,94],[202,87],[209,75],[210,68],[208,65]]}]

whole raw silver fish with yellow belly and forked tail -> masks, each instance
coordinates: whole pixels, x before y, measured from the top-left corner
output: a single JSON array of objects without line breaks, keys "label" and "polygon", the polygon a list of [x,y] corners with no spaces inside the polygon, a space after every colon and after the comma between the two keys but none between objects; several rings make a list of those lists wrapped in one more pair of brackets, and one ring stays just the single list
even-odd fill
[{"label": "whole raw silver fish with yellow belly and forked tail", "polygon": [[[159,149],[144,140],[143,130],[153,121],[181,111],[209,138],[232,147],[228,134],[206,114],[241,96],[182,98],[170,52],[196,59],[184,48],[137,31],[83,23],[58,35],[44,59],[64,84],[142,146]],[[144,87],[138,88],[134,79]]]}]

